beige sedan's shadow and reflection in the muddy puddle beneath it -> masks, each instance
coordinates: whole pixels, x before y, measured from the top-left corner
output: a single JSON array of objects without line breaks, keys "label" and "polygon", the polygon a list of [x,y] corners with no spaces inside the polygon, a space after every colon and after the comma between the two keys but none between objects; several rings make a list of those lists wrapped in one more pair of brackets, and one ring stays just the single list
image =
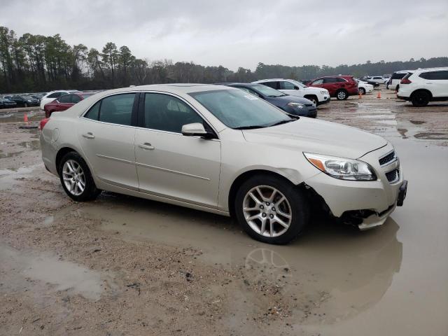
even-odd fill
[{"label": "beige sedan's shadow and reflection in the muddy puddle beneath it", "polygon": [[[71,211],[62,209],[53,223]],[[202,251],[197,258],[210,265],[244,267],[247,286],[274,283],[278,295],[318,302],[312,307],[316,317],[307,315],[301,321],[305,325],[331,324],[370,309],[391,286],[402,260],[398,225],[391,218],[368,232],[314,223],[293,244],[270,246],[246,237],[228,218],[111,193],[76,211],[77,216],[102,220],[101,230],[117,232],[125,240],[194,246]],[[234,288],[238,293],[233,295],[241,297],[235,304],[262,304],[247,288]],[[295,309],[296,316],[303,316],[303,305]],[[324,310],[326,314],[317,314]]]}]

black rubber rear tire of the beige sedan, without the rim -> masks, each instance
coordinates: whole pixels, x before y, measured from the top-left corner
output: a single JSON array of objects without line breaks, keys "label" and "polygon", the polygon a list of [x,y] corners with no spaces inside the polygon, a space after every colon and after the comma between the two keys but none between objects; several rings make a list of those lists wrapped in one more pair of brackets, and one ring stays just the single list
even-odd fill
[{"label": "black rubber rear tire of the beige sedan, without the rim", "polygon": [[[73,160],[76,161],[81,168],[83,168],[83,172],[84,172],[84,176],[85,176],[85,188],[82,194],[80,195],[72,195],[69,190],[67,190],[65,183],[64,183],[64,179],[62,176],[62,167],[64,167],[64,163],[68,160]],[[57,169],[58,173],[59,173],[59,180],[61,181],[62,184],[62,188],[64,188],[65,193],[73,200],[76,202],[86,202],[86,201],[90,201],[90,200],[94,200],[99,193],[101,192],[101,190],[97,189],[97,187],[95,186],[92,174],[90,173],[90,169],[87,166],[87,163],[85,162],[85,160],[76,152],[69,152],[66,153],[63,157],[61,162],[59,163],[59,167]]]}]

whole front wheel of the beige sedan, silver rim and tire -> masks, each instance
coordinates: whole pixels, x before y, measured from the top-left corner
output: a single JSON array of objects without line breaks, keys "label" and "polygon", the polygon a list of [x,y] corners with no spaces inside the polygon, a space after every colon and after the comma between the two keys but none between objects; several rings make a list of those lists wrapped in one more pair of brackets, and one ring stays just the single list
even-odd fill
[{"label": "whole front wheel of the beige sedan, silver rim and tire", "polygon": [[235,197],[235,214],[253,239],[287,244],[307,226],[309,204],[292,183],[263,174],[241,185]]}]

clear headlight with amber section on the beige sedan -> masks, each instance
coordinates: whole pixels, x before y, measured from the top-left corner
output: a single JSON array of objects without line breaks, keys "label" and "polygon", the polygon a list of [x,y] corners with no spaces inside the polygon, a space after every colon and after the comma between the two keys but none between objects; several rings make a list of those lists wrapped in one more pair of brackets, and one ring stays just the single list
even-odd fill
[{"label": "clear headlight with amber section on the beige sedan", "polygon": [[377,179],[372,167],[366,162],[329,155],[303,154],[311,165],[335,179],[351,181],[374,181]]}]

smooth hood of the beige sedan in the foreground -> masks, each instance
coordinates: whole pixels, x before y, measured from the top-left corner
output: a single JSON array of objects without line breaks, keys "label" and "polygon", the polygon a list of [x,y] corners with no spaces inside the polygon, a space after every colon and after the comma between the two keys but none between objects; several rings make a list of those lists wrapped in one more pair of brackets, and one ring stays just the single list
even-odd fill
[{"label": "smooth hood of the beige sedan in the foreground", "polygon": [[273,127],[244,130],[243,133],[248,142],[351,159],[360,158],[365,153],[387,144],[387,141],[378,135],[311,118],[300,118],[295,122]]}]

